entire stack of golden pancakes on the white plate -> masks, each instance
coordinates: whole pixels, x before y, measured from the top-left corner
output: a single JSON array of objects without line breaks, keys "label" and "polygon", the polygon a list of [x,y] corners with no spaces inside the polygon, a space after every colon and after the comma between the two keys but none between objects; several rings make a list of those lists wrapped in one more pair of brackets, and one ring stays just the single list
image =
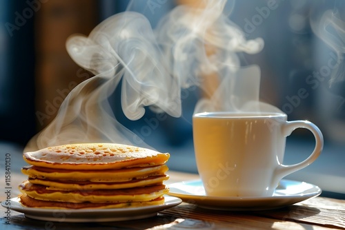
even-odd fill
[{"label": "entire stack of golden pancakes on the white plate", "polygon": [[164,203],[170,157],[119,144],[75,144],[23,154],[30,166],[19,185],[26,207],[104,209]]}]

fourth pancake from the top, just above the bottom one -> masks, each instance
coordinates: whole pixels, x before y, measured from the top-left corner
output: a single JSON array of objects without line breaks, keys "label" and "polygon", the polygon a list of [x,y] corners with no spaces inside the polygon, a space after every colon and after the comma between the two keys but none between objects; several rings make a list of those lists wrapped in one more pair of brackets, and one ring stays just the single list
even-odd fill
[{"label": "fourth pancake from the top, just above the bottom one", "polygon": [[166,185],[152,185],[130,189],[55,191],[46,189],[46,186],[43,185],[34,185],[28,180],[19,185],[19,190],[22,194],[26,194],[36,200],[72,203],[143,202],[155,200],[168,193]]}]

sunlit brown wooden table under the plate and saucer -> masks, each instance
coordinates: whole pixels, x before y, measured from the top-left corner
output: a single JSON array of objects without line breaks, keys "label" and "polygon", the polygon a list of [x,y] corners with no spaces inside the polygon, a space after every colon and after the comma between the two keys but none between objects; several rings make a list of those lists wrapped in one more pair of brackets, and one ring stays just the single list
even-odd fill
[{"label": "sunlit brown wooden table under the plate and saucer", "polygon": [[[193,180],[195,174],[169,171],[169,182]],[[12,185],[25,180],[25,176],[12,176]],[[12,189],[11,196],[18,191]],[[0,200],[6,199],[4,193]],[[211,211],[195,205],[181,203],[142,220],[121,222],[46,222],[26,218],[11,211],[10,224],[6,224],[6,209],[0,208],[0,229],[345,229],[345,200],[311,198],[296,205],[271,211]]]}]

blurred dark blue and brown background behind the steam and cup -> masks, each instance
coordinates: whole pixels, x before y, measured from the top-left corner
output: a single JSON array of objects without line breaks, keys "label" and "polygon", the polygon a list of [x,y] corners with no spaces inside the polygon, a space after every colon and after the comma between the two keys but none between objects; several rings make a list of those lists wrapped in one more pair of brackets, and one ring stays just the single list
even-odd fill
[{"label": "blurred dark blue and brown background behind the steam and cup", "polygon": [[[192,0],[141,1],[152,28],[169,10]],[[0,155],[21,151],[28,140],[55,118],[63,98],[92,77],[66,52],[71,34],[88,34],[99,22],[123,12],[129,1],[7,0],[0,1]],[[229,18],[247,39],[262,37],[258,54],[239,54],[243,65],[262,70],[260,98],[288,114],[308,119],[324,134],[322,155],[311,166],[288,176],[319,185],[324,196],[345,196],[345,3],[340,0],[228,1]],[[326,32],[313,30],[325,12],[337,19]],[[327,40],[326,35],[331,36]],[[331,34],[331,35],[330,35]],[[339,59],[339,60],[338,60]],[[336,66],[336,67],[335,67]],[[333,77],[335,82],[330,84]],[[147,110],[139,121],[123,113],[117,120],[148,145],[171,154],[173,170],[197,173],[191,119],[201,92],[183,90],[183,114],[155,123]],[[120,89],[109,98],[119,104]],[[143,129],[150,127],[150,129]],[[145,131],[146,130],[146,131]],[[284,163],[297,163],[313,150],[313,136],[297,130],[288,138]],[[0,156],[1,157],[1,156]],[[16,157],[17,158],[17,157]],[[4,157],[0,158],[3,163]]]}]

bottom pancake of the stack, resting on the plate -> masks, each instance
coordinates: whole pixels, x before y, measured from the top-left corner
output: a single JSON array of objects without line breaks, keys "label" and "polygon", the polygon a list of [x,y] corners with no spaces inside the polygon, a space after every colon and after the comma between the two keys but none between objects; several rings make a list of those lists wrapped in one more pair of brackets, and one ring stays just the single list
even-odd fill
[{"label": "bottom pancake of the stack, resting on the plate", "polygon": [[71,202],[57,202],[47,200],[36,200],[30,196],[23,194],[19,196],[21,205],[24,207],[40,208],[40,209],[122,209],[122,208],[137,208],[146,207],[150,205],[163,205],[164,198],[156,198],[155,200],[144,202],[106,202],[106,203],[71,203]]}]

